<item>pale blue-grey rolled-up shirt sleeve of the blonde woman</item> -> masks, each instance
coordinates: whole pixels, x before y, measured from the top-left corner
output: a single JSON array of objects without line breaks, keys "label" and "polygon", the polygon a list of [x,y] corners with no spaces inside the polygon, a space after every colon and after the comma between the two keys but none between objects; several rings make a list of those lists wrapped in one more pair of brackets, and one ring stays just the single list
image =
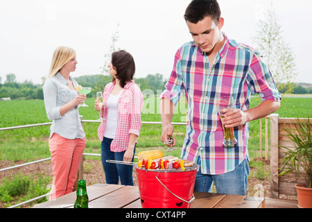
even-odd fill
[{"label": "pale blue-grey rolled-up shirt sleeve of the blonde woman", "polygon": [[53,121],[54,119],[61,119],[62,116],[60,114],[60,106],[57,106],[56,104],[58,89],[55,83],[53,83],[53,81],[50,79],[46,80],[46,83],[44,83],[42,89],[44,93],[46,117],[48,117],[50,121]]}]

